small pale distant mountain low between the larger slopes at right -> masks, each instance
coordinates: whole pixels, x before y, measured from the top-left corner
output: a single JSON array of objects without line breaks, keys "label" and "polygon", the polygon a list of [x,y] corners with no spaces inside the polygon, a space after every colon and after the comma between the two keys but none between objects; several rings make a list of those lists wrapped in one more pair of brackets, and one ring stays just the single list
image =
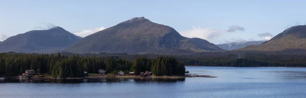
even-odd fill
[{"label": "small pale distant mountain low between the larger slopes at right", "polygon": [[248,45],[258,45],[265,42],[264,40],[261,41],[241,41],[241,42],[231,42],[231,43],[224,43],[224,44],[216,44],[223,50],[236,50],[239,48],[243,48]]}]

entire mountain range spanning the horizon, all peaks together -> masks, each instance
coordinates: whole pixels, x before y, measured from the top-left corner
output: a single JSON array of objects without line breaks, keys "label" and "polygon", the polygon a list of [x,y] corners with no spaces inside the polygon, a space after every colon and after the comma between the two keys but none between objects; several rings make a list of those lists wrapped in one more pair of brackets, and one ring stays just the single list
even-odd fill
[{"label": "entire mountain range spanning the horizon, all peaks together", "polygon": [[306,25],[293,26],[265,42],[245,41],[215,45],[204,39],[184,37],[169,26],[137,17],[84,38],[61,27],[54,27],[25,32],[9,37],[3,42],[0,41],[1,53],[190,55],[211,52],[213,55],[216,51],[224,52],[224,50],[301,53],[296,51],[306,50]]}]

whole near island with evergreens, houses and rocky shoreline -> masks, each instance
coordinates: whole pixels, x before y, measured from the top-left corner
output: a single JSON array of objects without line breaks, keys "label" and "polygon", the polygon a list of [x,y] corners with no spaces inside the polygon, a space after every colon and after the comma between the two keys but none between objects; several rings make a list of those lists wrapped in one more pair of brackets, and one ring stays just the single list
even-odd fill
[{"label": "whole near island with evergreens, houses and rocky shoreline", "polygon": [[[80,57],[54,54],[0,54],[0,72],[19,79],[185,78],[184,63],[173,57]],[[198,76],[201,77],[201,76]],[[204,76],[202,76],[204,77]],[[209,77],[209,76],[205,76]]]}]

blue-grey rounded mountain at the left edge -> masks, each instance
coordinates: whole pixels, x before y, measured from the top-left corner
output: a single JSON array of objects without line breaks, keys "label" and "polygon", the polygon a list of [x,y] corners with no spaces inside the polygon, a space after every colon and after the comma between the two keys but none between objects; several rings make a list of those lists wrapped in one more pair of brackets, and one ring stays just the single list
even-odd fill
[{"label": "blue-grey rounded mountain at the left edge", "polygon": [[63,50],[80,39],[61,27],[33,30],[4,40],[0,43],[0,52],[48,53]]}]

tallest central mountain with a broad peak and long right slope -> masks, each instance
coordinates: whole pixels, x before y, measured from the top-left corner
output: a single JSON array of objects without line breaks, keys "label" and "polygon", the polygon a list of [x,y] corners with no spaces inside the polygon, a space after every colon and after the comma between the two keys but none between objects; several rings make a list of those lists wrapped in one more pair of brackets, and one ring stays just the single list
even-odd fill
[{"label": "tallest central mountain with a broad peak and long right slope", "polygon": [[173,28],[136,17],[82,38],[68,47],[72,53],[180,54],[221,51],[207,40],[187,38]]}]

